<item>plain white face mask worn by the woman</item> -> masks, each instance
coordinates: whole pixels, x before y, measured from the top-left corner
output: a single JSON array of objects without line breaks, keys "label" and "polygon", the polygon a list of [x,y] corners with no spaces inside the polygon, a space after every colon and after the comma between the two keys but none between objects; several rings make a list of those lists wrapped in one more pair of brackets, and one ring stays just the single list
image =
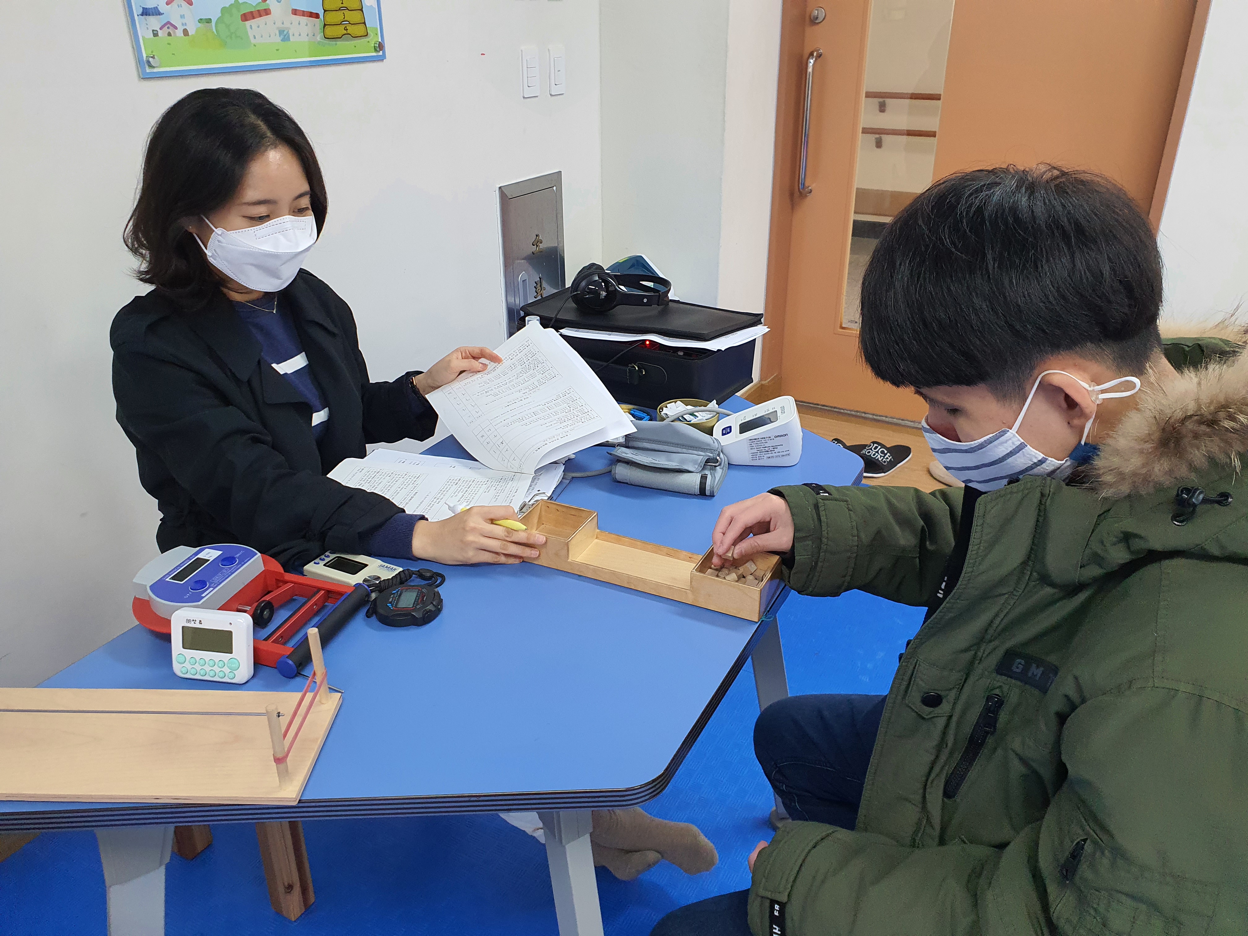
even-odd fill
[{"label": "plain white face mask worn by the woman", "polygon": [[[195,242],[200,243],[200,238]],[[235,282],[248,290],[277,292],[291,285],[314,243],[316,218],[287,215],[240,231],[213,227],[208,246],[200,243],[200,248]]]}]

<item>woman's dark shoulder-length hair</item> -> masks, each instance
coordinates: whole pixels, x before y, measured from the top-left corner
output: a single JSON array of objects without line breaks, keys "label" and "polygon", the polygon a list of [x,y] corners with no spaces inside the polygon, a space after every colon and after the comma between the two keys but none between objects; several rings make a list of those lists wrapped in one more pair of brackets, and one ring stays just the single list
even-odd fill
[{"label": "woman's dark shoulder-length hair", "polygon": [[220,285],[186,220],[210,215],[238,190],[260,154],[288,146],[303,165],[319,232],[328,201],[312,144],[285,110],[260,91],[206,87],[165,111],[147,139],[139,200],[125,243],[139,258],[135,276],[186,306],[206,302]]}]

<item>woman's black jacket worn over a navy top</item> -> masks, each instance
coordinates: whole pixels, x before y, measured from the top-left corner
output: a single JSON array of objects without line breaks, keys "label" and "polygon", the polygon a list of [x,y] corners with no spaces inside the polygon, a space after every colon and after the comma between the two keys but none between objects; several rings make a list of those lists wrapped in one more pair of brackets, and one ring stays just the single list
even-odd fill
[{"label": "woman's black jacket worn over a navy top", "polygon": [[326,474],[363,458],[364,443],[433,434],[437,413],[411,387],[417,372],[369,383],[351,308],[306,270],[277,301],[329,407],[319,444],[312,408],[261,361],[260,342],[220,292],[186,311],[154,290],[112,319],[117,422],[160,507],[162,552],[242,543],[296,568],[326,550],[362,552],[401,513]]}]

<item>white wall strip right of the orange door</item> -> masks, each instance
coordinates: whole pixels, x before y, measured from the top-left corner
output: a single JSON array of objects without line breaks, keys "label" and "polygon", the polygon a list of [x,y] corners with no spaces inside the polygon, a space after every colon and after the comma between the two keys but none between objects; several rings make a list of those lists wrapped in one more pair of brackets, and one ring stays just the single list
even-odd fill
[{"label": "white wall strip right of the orange door", "polygon": [[1172,322],[1219,318],[1248,296],[1246,35],[1248,4],[1213,0],[1158,233]]}]

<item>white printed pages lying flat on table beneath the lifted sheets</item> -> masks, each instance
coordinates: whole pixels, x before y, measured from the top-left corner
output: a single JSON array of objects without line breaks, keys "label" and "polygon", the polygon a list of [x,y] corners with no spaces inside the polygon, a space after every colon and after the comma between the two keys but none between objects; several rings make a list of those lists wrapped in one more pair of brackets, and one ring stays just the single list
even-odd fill
[{"label": "white printed pages lying flat on table beneath the lifted sheets", "polygon": [[[351,488],[363,488],[389,498],[407,513],[418,513],[431,520],[451,515],[448,504],[459,507],[493,507],[507,504],[514,510],[537,494],[535,477],[514,472],[494,472],[475,462],[434,456],[412,456],[394,452],[421,463],[387,461],[373,452],[368,458],[346,458],[329,477]],[[474,467],[469,467],[474,466]],[[563,467],[559,467],[563,475]],[[558,484],[558,478],[554,484]],[[554,485],[552,484],[552,490]],[[549,497],[549,495],[548,495]]]}]

